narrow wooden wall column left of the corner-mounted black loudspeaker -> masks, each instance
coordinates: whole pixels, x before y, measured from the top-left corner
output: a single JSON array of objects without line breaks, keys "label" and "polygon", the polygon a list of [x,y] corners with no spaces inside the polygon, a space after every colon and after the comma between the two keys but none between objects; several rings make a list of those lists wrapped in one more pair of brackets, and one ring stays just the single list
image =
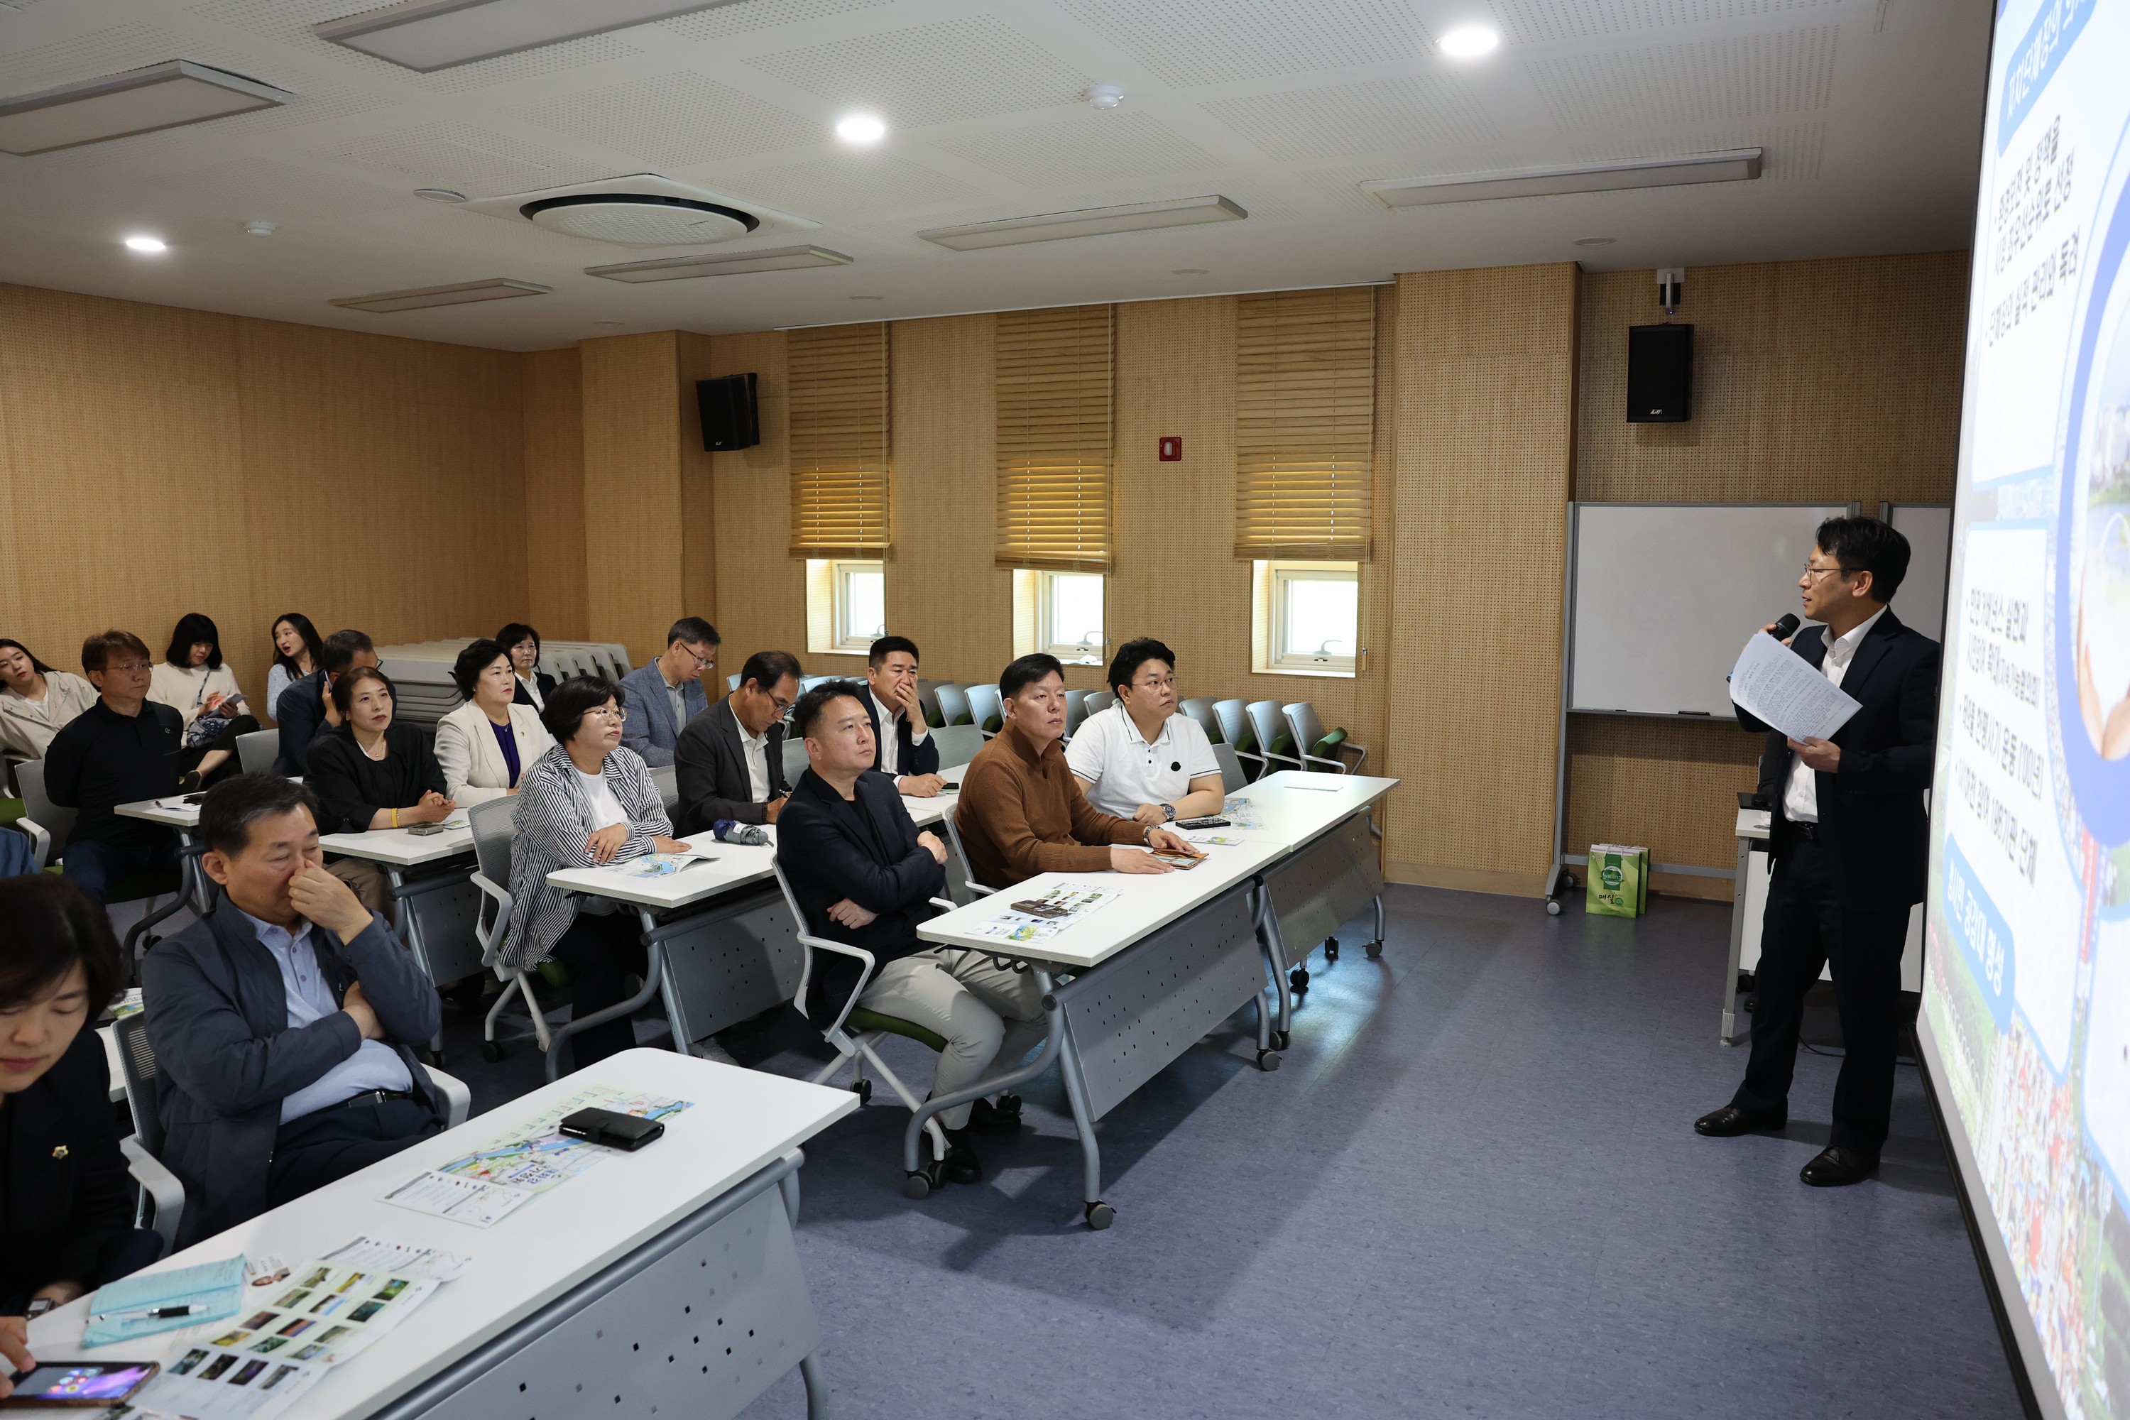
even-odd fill
[{"label": "narrow wooden wall column left of the corner-mounted black loudspeaker", "polygon": [[594,641],[633,664],[686,615],[679,481],[679,332],[579,341],[584,364],[584,581]]}]

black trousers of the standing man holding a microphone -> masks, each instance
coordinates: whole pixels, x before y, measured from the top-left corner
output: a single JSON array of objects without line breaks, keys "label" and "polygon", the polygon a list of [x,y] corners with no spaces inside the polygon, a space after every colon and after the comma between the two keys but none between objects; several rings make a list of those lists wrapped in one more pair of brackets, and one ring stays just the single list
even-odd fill
[{"label": "black trousers of the standing man holding a microphone", "polygon": [[1894,1056],[1900,1041],[1900,950],[1908,909],[1853,911],[1836,903],[1834,864],[1815,841],[1798,841],[1774,860],[1759,967],[1753,969],[1753,1054],[1732,1103],[1776,1109],[1789,1101],[1798,1067],[1804,992],[1830,967],[1842,1020],[1842,1071],[1834,1081],[1832,1145],[1879,1156],[1894,1109]]}]

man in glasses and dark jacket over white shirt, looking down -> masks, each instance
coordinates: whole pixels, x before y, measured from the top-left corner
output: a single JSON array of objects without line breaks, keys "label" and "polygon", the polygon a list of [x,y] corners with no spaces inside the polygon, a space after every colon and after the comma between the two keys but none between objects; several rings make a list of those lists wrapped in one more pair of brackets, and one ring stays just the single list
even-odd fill
[{"label": "man in glasses and dark jacket over white shirt, looking down", "polygon": [[777,822],[790,794],[784,715],[799,700],[799,675],[790,651],[756,651],[739,668],[739,690],[679,732],[679,832],[705,832],[718,820]]}]

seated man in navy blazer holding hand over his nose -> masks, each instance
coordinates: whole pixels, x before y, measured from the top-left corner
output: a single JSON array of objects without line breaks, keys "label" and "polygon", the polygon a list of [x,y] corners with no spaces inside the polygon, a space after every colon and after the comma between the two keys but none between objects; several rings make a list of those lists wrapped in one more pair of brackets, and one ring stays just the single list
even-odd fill
[{"label": "seated man in navy blazer holding hand over his nose", "polygon": [[437,988],[326,873],[311,792],[226,779],[198,832],[222,901],[141,964],[179,1245],[388,1158],[443,1113],[413,1058],[443,1020]]}]

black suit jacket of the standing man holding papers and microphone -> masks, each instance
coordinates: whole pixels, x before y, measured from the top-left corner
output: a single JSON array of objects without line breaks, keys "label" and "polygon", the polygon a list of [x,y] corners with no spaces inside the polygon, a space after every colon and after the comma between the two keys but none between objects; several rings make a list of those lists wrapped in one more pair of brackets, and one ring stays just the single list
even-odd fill
[{"label": "black suit jacket of the standing man holding papers and microphone", "polygon": [[[1806,626],[1791,649],[1815,668],[1825,660],[1825,628]],[[1902,626],[1887,609],[1866,632],[1842,675],[1842,694],[1862,709],[1834,732],[1842,747],[1836,773],[1815,775],[1819,835],[1842,907],[1900,911],[1923,901],[1930,875],[1930,788],[1938,743],[1938,643]],[[1766,730],[1764,792],[1774,803],[1768,852],[1781,860],[1798,837],[1783,815],[1793,752],[1781,730],[1738,711],[1747,730]],[[1768,783],[1772,771],[1772,783]]]}]

